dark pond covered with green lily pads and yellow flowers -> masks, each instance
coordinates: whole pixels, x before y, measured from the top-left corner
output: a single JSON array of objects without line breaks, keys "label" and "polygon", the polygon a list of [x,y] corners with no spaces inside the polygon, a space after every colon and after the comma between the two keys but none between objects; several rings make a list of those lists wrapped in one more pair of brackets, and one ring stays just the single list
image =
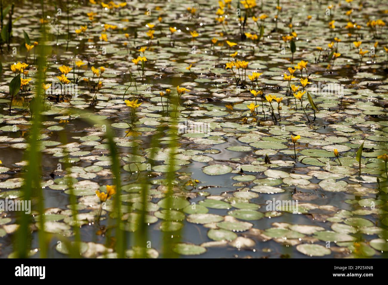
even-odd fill
[{"label": "dark pond covered with green lily pads and yellow flowers", "polygon": [[[72,256],[77,240],[76,255],[92,258],[119,248],[153,258],[386,257],[381,3],[65,1],[45,3],[43,18],[39,3],[11,8],[0,199],[33,197],[25,235],[21,211],[0,209],[0,257],[17,256],[23,239],[32,258]],[[19,73],[31,81],[12,99]],[[31,100],[61,74],[75,91],[48,88],[36,116]],[[96,195],[111,188],[109,199]]]}]

